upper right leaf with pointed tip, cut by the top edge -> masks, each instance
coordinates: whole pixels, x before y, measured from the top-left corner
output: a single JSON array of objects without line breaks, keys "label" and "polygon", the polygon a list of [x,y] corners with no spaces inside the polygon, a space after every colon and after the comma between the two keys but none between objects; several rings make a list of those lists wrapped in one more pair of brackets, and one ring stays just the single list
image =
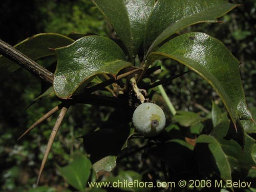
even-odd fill
[{"label": "upper right leaf with pointed tip, cut by the top edge", "polygon": [[179,30],[202,22],[217,22],[238,5],[223,0],[157,1],[146,25],[144,51],[148,54]]}]

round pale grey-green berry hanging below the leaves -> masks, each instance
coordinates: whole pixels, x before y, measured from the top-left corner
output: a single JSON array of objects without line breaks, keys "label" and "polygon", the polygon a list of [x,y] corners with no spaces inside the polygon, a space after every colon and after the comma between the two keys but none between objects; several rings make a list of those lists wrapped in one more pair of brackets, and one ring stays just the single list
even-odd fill
[{"label": "round pale grey-green berry hanging below the leaves", "polygon": [[165,115],[160,106],[154,103],[142,103],[133,113],[133,124],[138,133],[152,137],[163,131]]}]

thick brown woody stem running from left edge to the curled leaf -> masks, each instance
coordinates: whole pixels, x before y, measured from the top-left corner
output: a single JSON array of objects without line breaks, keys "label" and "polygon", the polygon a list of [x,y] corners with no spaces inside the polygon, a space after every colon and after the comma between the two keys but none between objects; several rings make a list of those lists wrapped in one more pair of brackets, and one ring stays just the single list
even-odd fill
[{"label": "thick brown woody stem running from left edge to the curled leaf", "polygon": [[38,63],[19,52],[7,42],[0,39],[0,52],[7,58],[16,62],[20,67],[25,68],[30,73],[34,74],[37,77],[40,77],[42,80],[52,83],[53,82],[53,73],[48,71],[46,68],[40,66]]}]

